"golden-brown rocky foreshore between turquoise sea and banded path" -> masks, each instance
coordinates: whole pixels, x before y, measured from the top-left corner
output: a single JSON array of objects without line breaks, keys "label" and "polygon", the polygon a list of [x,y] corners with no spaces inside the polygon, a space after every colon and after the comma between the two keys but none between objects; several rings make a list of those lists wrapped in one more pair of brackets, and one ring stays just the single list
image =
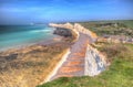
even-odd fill
[{"label": "golden-brown rocky foreshore between turquoise sea and banded path", "polygon": [[[68,45],[33,45],[24,50],[10,52],[18,54],[17,59],[0,62],[0,87],[34,87],[42,83],[66,52]],[[7,52],[3,52],[3,56]],[[0,54],[0,58],[2,53]],[[54,56],[54,57],[53,57]],[[7,64],[6,64],[6,63]],[[3,64],[4,63],[4,64]]]}]

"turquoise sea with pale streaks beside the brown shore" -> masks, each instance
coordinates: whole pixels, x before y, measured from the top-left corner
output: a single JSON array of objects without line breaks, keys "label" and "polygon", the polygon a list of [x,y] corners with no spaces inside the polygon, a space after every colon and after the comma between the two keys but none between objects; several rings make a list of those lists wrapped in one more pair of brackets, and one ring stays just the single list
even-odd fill
[{"label": "turquoise sea with pale streaks beside the brown shore", "polygon": [[45,25],[0,25],[0,51],[51,40],[52,32]]}]

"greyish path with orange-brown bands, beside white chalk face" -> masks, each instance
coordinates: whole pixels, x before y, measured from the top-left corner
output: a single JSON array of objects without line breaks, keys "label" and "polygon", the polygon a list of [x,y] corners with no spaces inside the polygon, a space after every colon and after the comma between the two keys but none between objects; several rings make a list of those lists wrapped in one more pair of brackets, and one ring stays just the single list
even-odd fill
[{"label": "greyish path with orange-brown bands, beside white chalk face", "polygon": [[79,40],[70,48],[71,53],[66,57],[66,61],[63,62],[50,80],[58,77],[83,76],[84,57],[90,41],[91,39],[88,35],[80,33]]}]

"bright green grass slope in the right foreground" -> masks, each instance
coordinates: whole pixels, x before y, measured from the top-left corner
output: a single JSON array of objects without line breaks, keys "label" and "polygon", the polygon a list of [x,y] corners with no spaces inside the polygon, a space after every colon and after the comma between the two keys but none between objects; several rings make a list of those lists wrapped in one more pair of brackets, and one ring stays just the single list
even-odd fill
[{"label": "bright green grass slope in the right foreground", "polygon": [[[110,50],[114,45],[105,44],[104,48]],[[124,44],[123,47],[126,52],[119,51],[117,47],[119,53],[109,57],[113,57],[111,66],[99,76],[62,77],[38,87],[133,87],[133,45]]]}]

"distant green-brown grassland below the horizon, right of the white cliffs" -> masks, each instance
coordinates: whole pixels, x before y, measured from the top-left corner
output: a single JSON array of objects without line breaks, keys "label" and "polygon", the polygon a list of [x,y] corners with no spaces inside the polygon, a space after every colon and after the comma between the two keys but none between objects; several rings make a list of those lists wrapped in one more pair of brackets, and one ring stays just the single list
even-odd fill
[{"label": "distant green-brown grassland below the horizon, right of the white cliffs", "polygon": [[[106,23],[119,23],[114,25],[102,25]],[[93,21],[93,22],[81,22],[83,26],[95,32],[98,35],[110,34],[110,35],[126,35],[133,37],[133,20],[122,21]]]}]

